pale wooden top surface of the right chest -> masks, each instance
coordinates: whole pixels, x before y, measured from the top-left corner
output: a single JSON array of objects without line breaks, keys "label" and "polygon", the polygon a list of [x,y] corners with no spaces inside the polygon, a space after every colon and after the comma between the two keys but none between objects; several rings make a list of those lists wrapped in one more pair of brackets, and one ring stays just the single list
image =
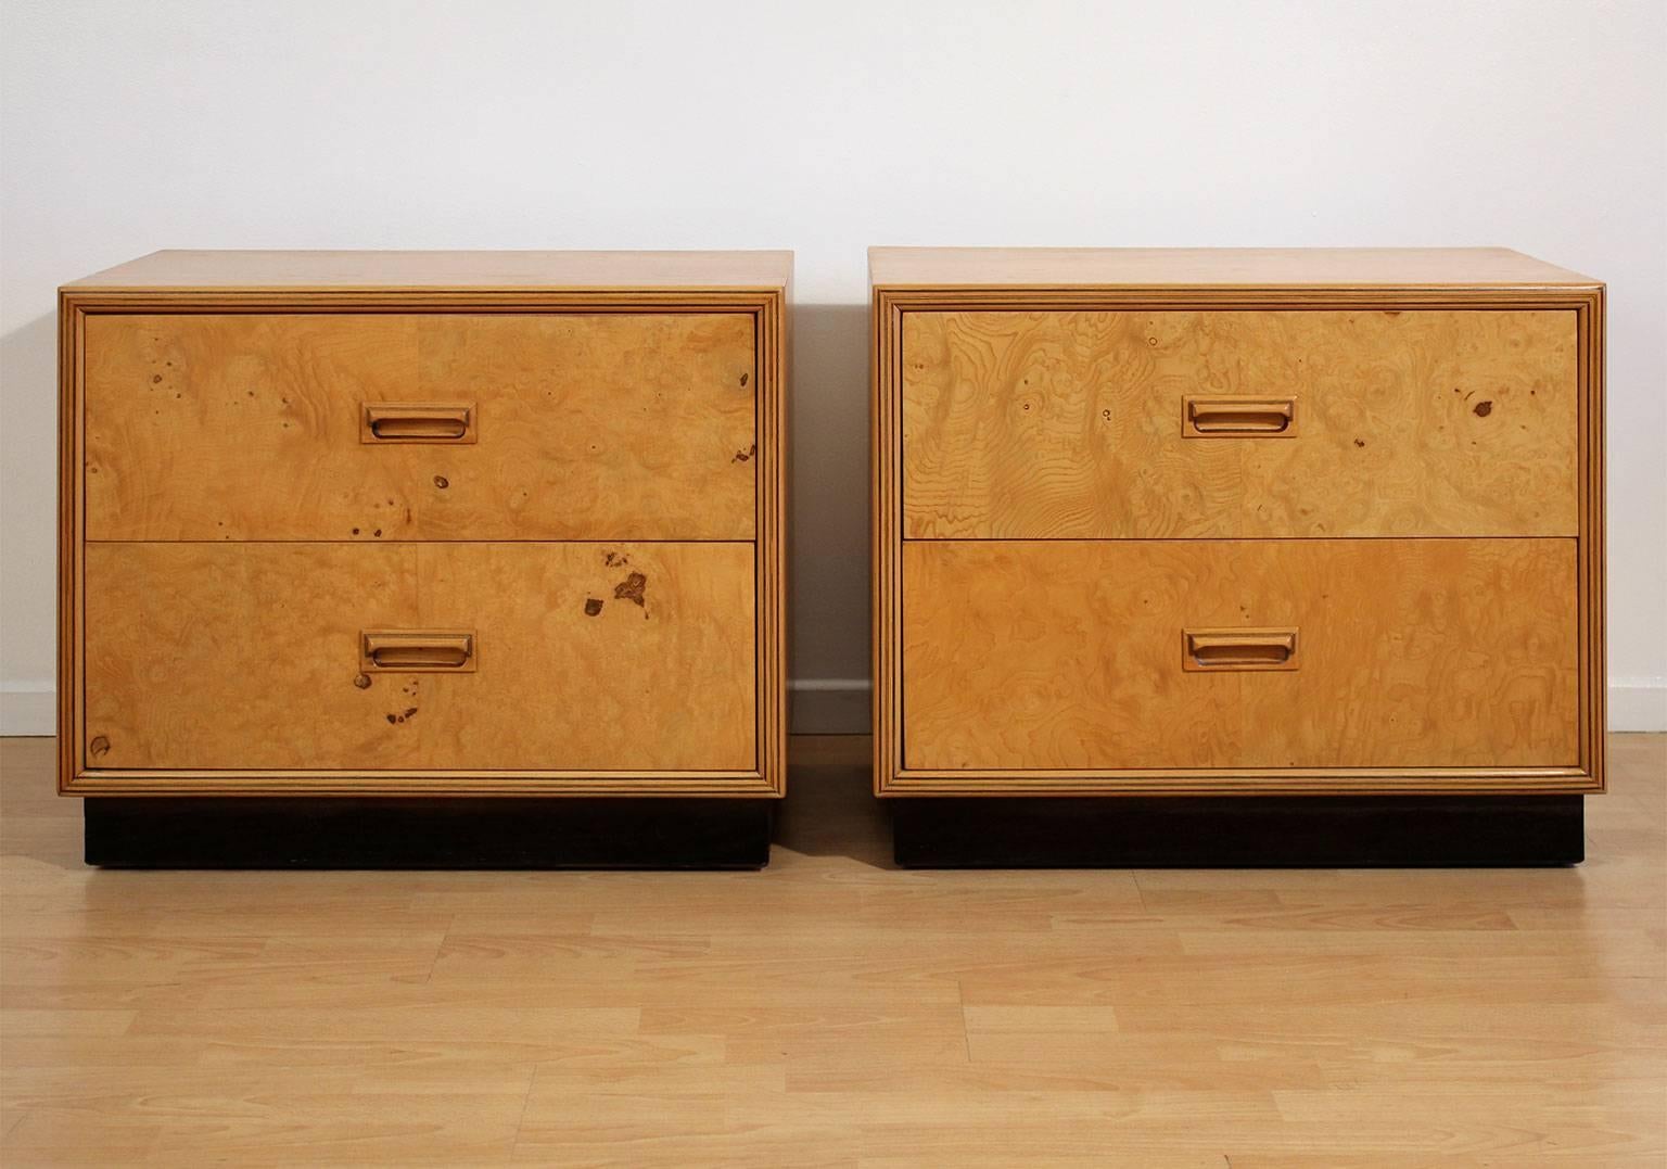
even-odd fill
[{"label": "pale wooden top surface of the right chest", "polygon": [[875,287],[1597,287],[1510,248],[869,248]]}]

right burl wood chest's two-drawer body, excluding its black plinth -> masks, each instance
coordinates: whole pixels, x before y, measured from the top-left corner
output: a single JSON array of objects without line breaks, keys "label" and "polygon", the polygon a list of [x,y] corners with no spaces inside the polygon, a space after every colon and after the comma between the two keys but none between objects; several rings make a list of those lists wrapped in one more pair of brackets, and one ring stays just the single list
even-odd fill
[{"label": "right burl wood chest's two-drawer body, excluding its black plinth", "polygon": [[882,795],[1602,790],[1600,283],[877,248]]}]

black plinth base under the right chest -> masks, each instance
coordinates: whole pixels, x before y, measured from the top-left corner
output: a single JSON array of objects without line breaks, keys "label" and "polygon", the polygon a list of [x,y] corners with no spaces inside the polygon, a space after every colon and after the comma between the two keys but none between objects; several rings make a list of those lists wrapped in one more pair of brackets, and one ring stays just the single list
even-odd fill
[{"label": "black plinth base under the right chest", "polygon": [[1585,859],[1580,795],[890,800],[917,869],[1547,867]]}]

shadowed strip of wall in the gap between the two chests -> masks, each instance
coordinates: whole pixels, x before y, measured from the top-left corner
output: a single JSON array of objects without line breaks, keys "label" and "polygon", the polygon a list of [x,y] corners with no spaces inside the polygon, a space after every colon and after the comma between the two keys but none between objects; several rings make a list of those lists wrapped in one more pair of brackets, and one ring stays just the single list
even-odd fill
[{"label": "shadowed strip of wall in the gap between the two chests", "polygon": [[788,727],[869,732],[869,305],[792,307]]}]

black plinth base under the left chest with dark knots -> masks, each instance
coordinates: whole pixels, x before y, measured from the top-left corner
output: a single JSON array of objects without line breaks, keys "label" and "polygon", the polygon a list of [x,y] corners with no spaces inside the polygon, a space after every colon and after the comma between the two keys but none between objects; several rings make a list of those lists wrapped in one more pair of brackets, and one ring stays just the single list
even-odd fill
[{"label": "black plinth base under the left chest with dark knots", "polygon": [[762,869],[773,800],[115,797],[83,800],[112,869]]}]

